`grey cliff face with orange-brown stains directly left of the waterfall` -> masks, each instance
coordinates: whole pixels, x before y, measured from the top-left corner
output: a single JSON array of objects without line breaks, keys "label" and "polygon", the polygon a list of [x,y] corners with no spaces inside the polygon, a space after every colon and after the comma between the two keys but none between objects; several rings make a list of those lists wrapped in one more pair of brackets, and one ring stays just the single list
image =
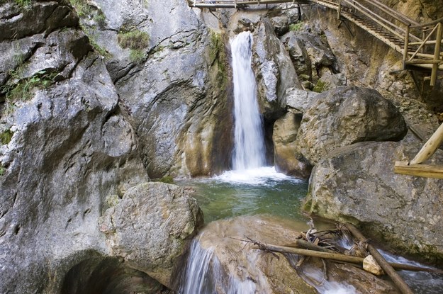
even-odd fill
[{"label": "grey cliff face with orange-brown stains directly left of the waterfall", "polygon": [[[206,28],[186,1],[142,2],[96,1],[105,26],[82,22],[111,55],[106,64],[133,119],[148,174],[201,176],[228,168],[225,36]],[[124,48],[125,32],[141,32],[148,42]]]}]

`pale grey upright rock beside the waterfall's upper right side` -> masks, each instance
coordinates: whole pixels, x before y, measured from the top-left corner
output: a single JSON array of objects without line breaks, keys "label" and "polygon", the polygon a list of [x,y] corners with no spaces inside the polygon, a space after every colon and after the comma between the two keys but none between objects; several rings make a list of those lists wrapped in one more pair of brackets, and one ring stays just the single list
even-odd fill
[{"label": "pale grey upright rock beside the waterfall's upper right side", "polygon": [[269,19],[264,18],[254,32],[253,64],[257,78],[260,108],[265,118],[279,116],[288,88],[300,88],[288,52],[276,37]]}]

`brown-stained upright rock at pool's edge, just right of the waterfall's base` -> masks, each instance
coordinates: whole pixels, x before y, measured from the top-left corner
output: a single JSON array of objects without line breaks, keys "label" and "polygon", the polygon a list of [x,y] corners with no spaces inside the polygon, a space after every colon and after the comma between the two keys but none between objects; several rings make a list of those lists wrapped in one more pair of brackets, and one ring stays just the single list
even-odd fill
[{"label": "brown-stained upright rock at pool's edge, just right of the waterfall's base", "polygon": [[297,152],[296,137],[300,127],[301,115],[286,113],[274,123],[272,141],[274,142],[274,165],[277,171],[301,179],[310,176],[311,166]]}]

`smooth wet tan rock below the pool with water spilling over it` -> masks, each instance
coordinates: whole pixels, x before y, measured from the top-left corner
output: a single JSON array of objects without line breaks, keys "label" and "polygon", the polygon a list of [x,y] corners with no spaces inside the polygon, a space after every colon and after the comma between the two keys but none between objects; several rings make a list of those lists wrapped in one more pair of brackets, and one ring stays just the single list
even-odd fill
[{"label": "smooth wet tan rock below the pool with water spilling over it", "polygon": [[[293,222],[289,224],[283,220],[259,216],[211,222],[199,234],[199,244],[194,244],[191,253],[194,255],[190,260],[205,259],[208,271],[206,274],[200,271],[197,276],[197,267],[194,268],[196,276],[191,285],[184,284],[188,290],[185,293],[201,293],[193,288],[195,286],[210,289],[211,293],[215,289],[217,293],[328,293],[333,285],[339,285],[337,281],[342,291],[335,288],[337,293],[396,293],[386,281],[352,266],[328,263],[328,281],[324,280],[320,270],[323,268],[320,260],[309,259],[294,271],[291,264],[297,264],[296,256],[290,257],[293,261],[290,263],[282,254],[267,254],[253,244],[239,240],[247,236],[267,244],[291,244],[298,237],[297,229],[300,228],[301,225],[296,227]],[[315,285],[317,289],[304,281],[303,276],[309,276],[311,283],[313,280],[318,281]]]}]

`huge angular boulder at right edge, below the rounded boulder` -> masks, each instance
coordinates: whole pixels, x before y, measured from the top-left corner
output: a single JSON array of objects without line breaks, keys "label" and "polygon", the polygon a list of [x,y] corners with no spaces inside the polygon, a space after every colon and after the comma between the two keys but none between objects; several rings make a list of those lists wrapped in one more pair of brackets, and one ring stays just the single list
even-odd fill
[{"label": "huge angular boulder at right edge, below the rounded boulder", "polygon": [[[410,254],[441,261],[443,182],[393,173],[420,144],[361,142],[344,147],[313,169],[305,210],[358,223],[364,232]],[[443,164],[442,152],[434,164]]]}]

